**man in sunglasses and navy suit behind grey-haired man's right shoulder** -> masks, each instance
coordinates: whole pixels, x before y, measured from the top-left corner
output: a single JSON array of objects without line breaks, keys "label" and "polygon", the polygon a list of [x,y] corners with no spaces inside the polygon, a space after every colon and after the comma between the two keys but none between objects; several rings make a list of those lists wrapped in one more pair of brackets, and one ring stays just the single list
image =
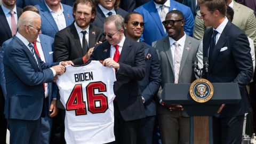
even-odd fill
[{"label": "man in sunglasses and navy suit behind grey-haired man's right shoulder", "polygon": [[[131,12],[124,18],[124,29],[127,37],[139,42],[145,23],[142,15]],[[155,95],[161,83],[159,59],[154,47],[141,42],[145,48],[146,76],[139,82],[141,98],[145,108],[145,118],[140,119],[137,143],[151,144],[156,118]]]}]

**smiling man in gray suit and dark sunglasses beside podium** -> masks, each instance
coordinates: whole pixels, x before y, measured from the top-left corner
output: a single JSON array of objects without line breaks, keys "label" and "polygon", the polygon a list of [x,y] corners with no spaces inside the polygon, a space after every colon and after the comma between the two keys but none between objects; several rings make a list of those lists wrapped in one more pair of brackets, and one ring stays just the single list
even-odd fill
[{"label": "smiling man in gray suit and dark sunglasses beside podium", "polygon": [[163,25],[168,36],[153,43],[160,59],[162,76],[157,94],[158,123],[163,144],[185,144],[189,143],[189,117],[178,103],[166,105],[161,95],[166,83],[191,83],[196,79],[192,65],[199,41],[185,34],[185,20],[181,11],[167,13]]}]

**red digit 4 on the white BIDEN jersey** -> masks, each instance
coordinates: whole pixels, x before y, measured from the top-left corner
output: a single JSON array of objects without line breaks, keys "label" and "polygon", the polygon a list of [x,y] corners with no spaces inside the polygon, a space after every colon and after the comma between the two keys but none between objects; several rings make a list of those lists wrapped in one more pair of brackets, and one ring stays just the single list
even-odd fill
[{"label": "red digit 4 on the white BIDEN jersey", "polygon": [[76,84],[66,103],[67,110],[76,110],[77,115],[86,115],[85,101],[83,100],[82,84]]}]

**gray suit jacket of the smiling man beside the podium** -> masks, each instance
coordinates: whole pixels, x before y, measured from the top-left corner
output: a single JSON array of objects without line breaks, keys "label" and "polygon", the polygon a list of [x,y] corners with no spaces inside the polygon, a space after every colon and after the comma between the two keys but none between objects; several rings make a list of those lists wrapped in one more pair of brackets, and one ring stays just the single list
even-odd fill
[{"label": "gray suit jacket of the smiling man beside the podium", "polygon": [[[179,83],[191,83],[196,78],[193,73],[192,65],[193,58],[196,57],[200,42],[195,38],[186,36],[185,46],[183,49],[179,73]],[[172,60],[171,45],[169,41],[169,36],[166,36],[162,39],[159,39],[156,42],[153,42],[153,46],[156,47],[156,52],[160,61],[160,68],[162,74],[162,83],[161,87],[157,93],[158,100],[161,99],[162,87],[166,83],[174,83],[174,66]],[[160,105],[157,102],[157,113],[158,114],[173,114],[177,115],[177,111],[170,111],[169,109]],[[178,104],[178,103],[177,103]],[[188,116],[185,111],[182,111],[182,116]]]}]

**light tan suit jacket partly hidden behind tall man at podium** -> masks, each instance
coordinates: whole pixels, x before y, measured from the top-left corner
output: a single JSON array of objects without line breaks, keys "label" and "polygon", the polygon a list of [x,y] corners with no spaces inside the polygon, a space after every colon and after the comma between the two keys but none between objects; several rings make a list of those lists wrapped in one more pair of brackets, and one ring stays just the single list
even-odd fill
[{"label": "light tan suit jacket partly hidden behind tall man at podium", "polygon": [[[244,31],[247,37],[253,39],[254,47],[256,45],[256,18],[254,15],[254,11],[249,7],[246,7],[242,4],[234,2],[234,18],[232,23]],[[200,19],[200,12],[197,11],[197,15],[195,17],[195,25],[193,29],[193,37],[196,39],[203,39],[204,31],[206,27],[204,26],[204,21]],[[208,27],[207,27],[208,28]]]}]

